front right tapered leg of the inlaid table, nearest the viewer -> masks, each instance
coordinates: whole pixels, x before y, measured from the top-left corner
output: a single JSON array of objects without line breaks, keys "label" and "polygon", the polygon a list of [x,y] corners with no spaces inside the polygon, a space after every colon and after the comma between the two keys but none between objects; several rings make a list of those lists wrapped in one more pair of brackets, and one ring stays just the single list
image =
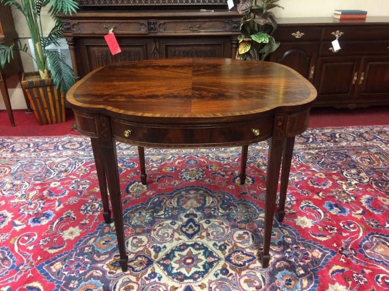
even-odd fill
[{"label": "front right tapered leg of the inlaid table, nearest the viewer", "polygon": [[262,267],[267,268],[270,261],[269,250],[271,229],[276,206],[278,177],[280,175],[283,138],[269,139],[269,156],[267,161],[266,200],[265,200],[265,223],[263,230]]}]

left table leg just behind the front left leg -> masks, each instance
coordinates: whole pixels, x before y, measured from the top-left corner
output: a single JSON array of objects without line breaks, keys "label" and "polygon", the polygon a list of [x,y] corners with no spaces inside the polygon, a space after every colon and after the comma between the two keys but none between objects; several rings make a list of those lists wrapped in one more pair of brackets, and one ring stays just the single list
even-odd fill
[{"label": "left table leg just behind the front left leg", "polygon": [[101,152],[100,139],[91,138],[93,156],[95,158],[95,165],[97,171],[97,178],[99,180],[101,202],[103,204],[103,217],[105,223],[111,223],[111,211],[109,210],[107,182],[104,168],[104,160]]}]

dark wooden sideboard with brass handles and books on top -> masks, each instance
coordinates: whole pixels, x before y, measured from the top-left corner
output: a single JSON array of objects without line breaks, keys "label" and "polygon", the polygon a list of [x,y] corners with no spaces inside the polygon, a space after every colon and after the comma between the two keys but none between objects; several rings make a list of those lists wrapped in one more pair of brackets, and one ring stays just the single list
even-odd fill
[{"label": "dark wooden sideboard with brass handles and books on top", "polygon": [[[270,60],[314,84],[316,107],[389,105],[389,17],[365,20],[278,19],[279,49]],[[334,52],[335,34],[341,50]]]}]

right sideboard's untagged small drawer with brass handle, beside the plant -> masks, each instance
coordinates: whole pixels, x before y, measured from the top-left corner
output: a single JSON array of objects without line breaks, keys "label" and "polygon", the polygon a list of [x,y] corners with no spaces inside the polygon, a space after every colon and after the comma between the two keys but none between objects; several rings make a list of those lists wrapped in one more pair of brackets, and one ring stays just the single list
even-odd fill
[{"label": "right sideboard's untagged small drawer with brass handle, beside the plant", "polygon": [[279,27],[274,32],[274,38],[277,41],[306,41],[306,40],[320,40],[320,27]]}]

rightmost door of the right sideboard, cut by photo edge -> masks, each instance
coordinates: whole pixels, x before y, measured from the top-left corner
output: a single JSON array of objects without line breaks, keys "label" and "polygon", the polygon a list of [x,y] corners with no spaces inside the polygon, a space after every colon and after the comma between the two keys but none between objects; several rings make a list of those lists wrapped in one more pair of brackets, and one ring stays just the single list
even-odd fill
[{"label": "rightmost door of the right sideboard, cut by photo edge", "polygon": [[367,103],[389,102],[389,57],[362,59],[357,98]]}]

